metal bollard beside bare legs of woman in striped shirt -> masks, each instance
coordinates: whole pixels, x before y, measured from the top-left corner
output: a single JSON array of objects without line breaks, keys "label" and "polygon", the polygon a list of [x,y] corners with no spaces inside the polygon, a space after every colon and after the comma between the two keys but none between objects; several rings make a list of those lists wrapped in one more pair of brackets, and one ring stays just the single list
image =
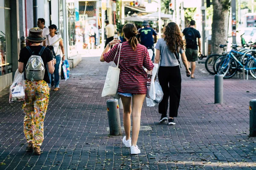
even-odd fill
[{"label": "metal bollard beside bare legs of woman in striped shirt", "polygon": [[110,135],[122,135],[118,100],[108,99],[107,110]]}]

